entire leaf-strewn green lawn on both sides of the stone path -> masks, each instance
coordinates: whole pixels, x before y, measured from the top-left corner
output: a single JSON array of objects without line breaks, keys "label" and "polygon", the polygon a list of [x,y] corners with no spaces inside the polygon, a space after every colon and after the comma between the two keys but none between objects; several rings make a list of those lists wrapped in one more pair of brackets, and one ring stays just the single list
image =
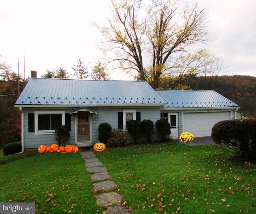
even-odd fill
[{"label": "entire leaf-strewn green lawn on both sides of the stone path", "polygon": [[[256,213],[255,164],[215,145],[156,143],[96,155],[134,214]],[[0,202],[35,202],[39,214],[102,212],[92,183],[79,152],[0,156]]]}]

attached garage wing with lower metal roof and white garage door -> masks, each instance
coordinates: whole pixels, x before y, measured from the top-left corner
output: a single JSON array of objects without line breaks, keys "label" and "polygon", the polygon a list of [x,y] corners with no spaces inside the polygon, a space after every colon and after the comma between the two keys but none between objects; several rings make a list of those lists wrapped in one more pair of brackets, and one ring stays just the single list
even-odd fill
[{"label": "attached garage wing with lower metal roof and white garage door", "polygon": [[171,138],[178,139],[182,132],[195,137],[209,137],[212,127],[222,120],[236,119],[240,106],[213,90],[159,90],[166,103],[161,118],[171,125]]}]

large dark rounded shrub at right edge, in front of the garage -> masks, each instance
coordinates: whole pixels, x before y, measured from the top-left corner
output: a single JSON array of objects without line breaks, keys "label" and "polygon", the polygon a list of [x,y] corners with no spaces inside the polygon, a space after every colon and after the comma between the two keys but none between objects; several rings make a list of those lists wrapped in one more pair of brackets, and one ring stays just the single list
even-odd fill
[{"label": "large dark rounded shrub at right edge, in front of the garage", "polygon": [[214,143],[229,147],[246,160],[256,160],[256,120],[224,120],[212,128]]}]

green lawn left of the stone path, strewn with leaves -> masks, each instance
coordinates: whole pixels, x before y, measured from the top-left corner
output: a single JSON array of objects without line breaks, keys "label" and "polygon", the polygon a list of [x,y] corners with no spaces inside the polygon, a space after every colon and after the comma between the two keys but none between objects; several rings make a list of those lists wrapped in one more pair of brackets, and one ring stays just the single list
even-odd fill
[{"label": "green lawn left of the stone path, strewn with leaves", "polygon": [[80,152],[0,157],[0,202],[35,202],[37,214],[97,213]]}]

